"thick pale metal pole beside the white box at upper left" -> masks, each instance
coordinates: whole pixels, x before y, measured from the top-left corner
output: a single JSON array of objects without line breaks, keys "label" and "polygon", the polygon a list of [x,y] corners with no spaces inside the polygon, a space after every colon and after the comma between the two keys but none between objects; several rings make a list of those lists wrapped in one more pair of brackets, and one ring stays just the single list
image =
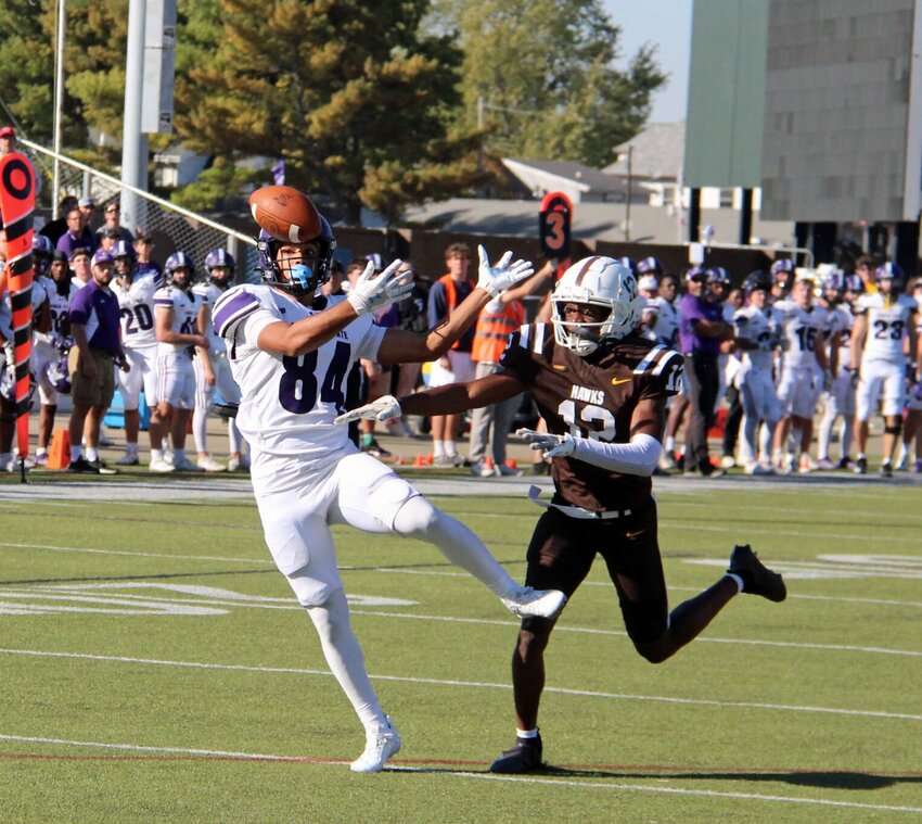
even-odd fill
[{"label": "thick pale metal pole beside the white box at upper left", "polygon": [[[128,1],[128,46],[125,58],[125,127],[121,136],[121,182],[148,188],[148,140],[141,134],[144,92],[144,18],[146,0]],[[143,201],[129,188],[121,190],[121,225],[132,231],[143,220]]]}]

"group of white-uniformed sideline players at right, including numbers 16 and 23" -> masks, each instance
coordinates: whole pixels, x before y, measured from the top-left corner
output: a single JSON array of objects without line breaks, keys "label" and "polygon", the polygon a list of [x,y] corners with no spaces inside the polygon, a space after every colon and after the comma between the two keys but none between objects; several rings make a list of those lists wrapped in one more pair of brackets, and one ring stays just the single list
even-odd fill
[{"label": "group of white-uniformed sideline players at right, including numbers 16 and 23", "polygon": [[[645,334],[693,355],[693,343],[683,334],[689,295],[677,299],[676,279],[655,258],[641,261],[637,270],[646,301]],[[717,307],[723,321],[713,378],[719,385],[705,410],[712,422],[726,395],[723,469],[786,474],[850,468],[865,474],[870,422],[880,410],[880,473],[922,472],[922,279],[907,283],[899,266],[870,256],[858,258],[853,272],[780,259],[770,270],[751,272],[741,289],[731,288],[721,268],[692,267],[684,278],[690,293],[697,289],[695,300]],[[697,470],[675,449],[678,421],[689,406],[682,397],[688,384],[671,405],[662,471],[682,465],[687,473]],[[840,452],[834,457],[836,421]]]}]

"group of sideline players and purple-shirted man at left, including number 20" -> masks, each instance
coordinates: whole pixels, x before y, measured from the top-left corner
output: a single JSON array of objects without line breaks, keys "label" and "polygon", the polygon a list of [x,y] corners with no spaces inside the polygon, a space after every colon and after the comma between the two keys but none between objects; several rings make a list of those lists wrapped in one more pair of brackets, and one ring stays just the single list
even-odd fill
[{"label": "group of sideline players and purple-shirted man at left, including number 20", "polygon": [[[1,234],[1,233],[0,233]],[[0,238],[2,241],[2,238]],[[105,246],[105,248],[104,248]],[[204,261],[206,282],[195,282],[195,263],[184,252],[164,267],[150,262],[151,238],[139,233],[100,245],[59,244],[36,233],[33,240],[33,356],[39,427],[35,465],[48,462],[61,394],[72,395],[71,462],[67,471],[112,473],[100,457],[101,422],[117,389],[125,415],[125,454],[117,466],[137,466],[141,393],[150,407],[152,472],[246,469],[248,454],[240,431],[228,422],[227,466],[208,451],[207,418],[216,392],[236,403],[240,392],[228,365],[223,341],[210,324],[215,301],[232,283],[233,256],[215,249]],[[4,257],[0,248],[0,259]],[[9,296],[0,304],[0,335],[12,340]],[[11,358],[0,386],[3,404],[12,398]],[[185,454],[191,420],[197,460]],[[0,432],[0,470],[17,466],[12,439]]]}]

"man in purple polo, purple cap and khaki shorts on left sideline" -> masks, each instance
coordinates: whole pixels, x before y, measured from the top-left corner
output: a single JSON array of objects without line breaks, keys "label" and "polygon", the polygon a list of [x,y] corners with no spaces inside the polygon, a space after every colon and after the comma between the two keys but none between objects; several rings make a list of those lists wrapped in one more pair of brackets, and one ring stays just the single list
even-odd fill
[{"label": "man in purple polo, purple cap and khaki shorts on left sideline", "polygon": [[[69,423],[68,472],[115,473],[99,457],[100,427],[115,393],[113,367],[130,367],[121,348],[118,299],[110,289],[113,267],[112,255],[97,252],[92,261],[91,281],[71,299],[74,347],[71,350],[68,366],[74,410]],[[80,446],[85,434],[87,457],[84,457]]]}]

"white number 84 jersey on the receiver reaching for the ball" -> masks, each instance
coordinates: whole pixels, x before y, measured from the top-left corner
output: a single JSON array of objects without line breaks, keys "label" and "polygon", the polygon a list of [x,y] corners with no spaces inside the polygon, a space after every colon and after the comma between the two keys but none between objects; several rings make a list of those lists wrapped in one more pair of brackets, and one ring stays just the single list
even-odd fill
[{"label": "white number 84 jersey on the receiver reaching for the ball", "polygon": [[385,330],[363,315],[306,355],[290,357],[256,345],[270,324],[294,324],[315,314],[262,284],[232,287],[215,304],[212,320],[228,343],[241,390],[236,423],[253,448],[251,479],[257,494],[294,489],[305,472],[355,452],[348,427],[336,427],[333,419],[345,411],[353,364],[377,357]]}]

